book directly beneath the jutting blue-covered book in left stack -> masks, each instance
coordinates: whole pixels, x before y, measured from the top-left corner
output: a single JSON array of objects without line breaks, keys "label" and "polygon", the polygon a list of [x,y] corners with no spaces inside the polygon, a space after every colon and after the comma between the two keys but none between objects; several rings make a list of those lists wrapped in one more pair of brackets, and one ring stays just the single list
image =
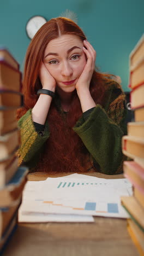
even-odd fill
[{"label": "book directly beneath the jutting blue-covered book in left stack", "polygon": [[21,205],[22,197],[17,200],[17,204],[11,207],[0,207],[0,239],[4,235],[4,232],[8,229],[11,219],[18,213]]}]

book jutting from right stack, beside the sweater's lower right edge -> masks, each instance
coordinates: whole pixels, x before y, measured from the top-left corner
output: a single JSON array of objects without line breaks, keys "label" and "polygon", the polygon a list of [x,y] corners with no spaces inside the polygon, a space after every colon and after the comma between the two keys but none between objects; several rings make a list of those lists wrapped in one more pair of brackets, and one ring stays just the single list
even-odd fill
[{"label": "book jutting from right stack, beside the sweater's lower right edge", "polygon": [[130,158],[144,158],[144,139],[135,136],[122,137],[122,151]]}]

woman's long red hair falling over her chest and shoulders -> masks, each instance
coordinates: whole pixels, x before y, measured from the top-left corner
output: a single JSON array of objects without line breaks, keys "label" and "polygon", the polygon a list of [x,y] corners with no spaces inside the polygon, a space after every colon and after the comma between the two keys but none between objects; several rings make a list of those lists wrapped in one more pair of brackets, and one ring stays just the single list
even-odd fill
[{"label": "woman's long red hair falling over her chest and shoulders", "polygon": [[[29,108],[33,108],[38,100],[37,91],[42,88],[38,77],[40,63],[43,61],[44,52],[50,40],[63,34],[74,34],[80,40],[86,36],[74,21],[67,18],[55,18],[46,22],[35,34],[26,53],[25,69],[23,73],[23,95],[25,106],[17,110],[17,119],[20,119]],[[111,78],[110,74],[94,71],[89,90],[95,103],[103,106],[105,95],[105,82]],[[81,117],[82,110],[76,90],[73,93],[73,102],[67,114],[57,107],[58,95],[52,101],[47,120],[50,126],[50,137],[41,153],[35,171],[49,172],[76,172],[86,171],[89,166],[89,155],[79,136],[72,127]]]}]

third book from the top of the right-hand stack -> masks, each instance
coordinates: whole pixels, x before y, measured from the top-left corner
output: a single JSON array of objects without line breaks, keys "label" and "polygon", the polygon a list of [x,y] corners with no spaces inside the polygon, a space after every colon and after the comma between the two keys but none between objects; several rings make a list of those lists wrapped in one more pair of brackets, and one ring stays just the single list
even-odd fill
[{"label": "third book from the top of the right-hand stack", "polygon": [[[144,79],[144,70],[143,70]],[[144,107],[144,82],[130,92],[131,109]]]}]

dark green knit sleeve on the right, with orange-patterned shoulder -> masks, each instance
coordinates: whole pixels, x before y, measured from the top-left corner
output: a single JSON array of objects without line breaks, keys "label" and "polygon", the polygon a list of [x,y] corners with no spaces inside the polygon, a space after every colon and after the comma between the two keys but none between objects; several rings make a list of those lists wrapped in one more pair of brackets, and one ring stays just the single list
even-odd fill
[{"label": "dark green knit sleeve on the right, with orange-patterned shoulder", "polygon": [[118,84],[107,92],[105,107],[99,104],[85,121],[80,118],[73,128],[80,136],[94,164],[105,174],[122,172],[122,136],[127,133],[124,93]]}]

